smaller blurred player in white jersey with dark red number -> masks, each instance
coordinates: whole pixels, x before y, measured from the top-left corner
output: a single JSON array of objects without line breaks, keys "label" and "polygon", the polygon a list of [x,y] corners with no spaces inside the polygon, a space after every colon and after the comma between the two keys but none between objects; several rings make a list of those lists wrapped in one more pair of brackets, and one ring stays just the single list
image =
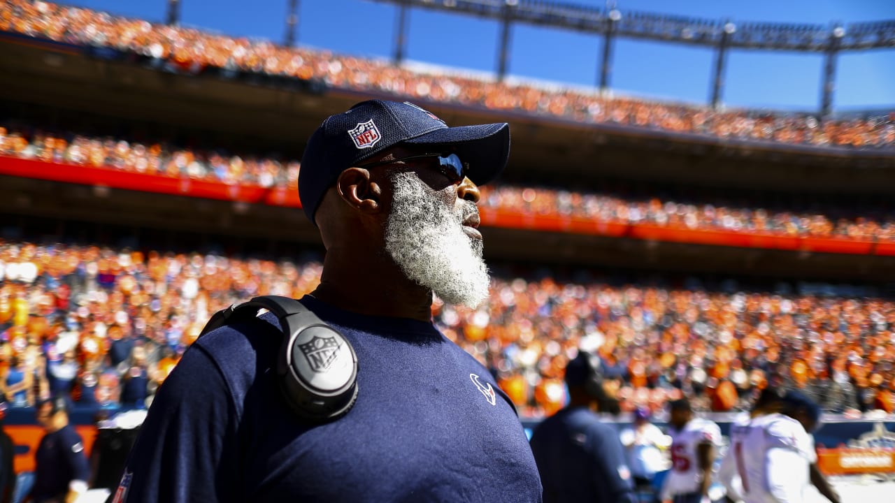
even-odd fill
[{"label": "smaller blurred player in white jersey with dark red number", "polygon": [[717,424],[693,415],[686,398],[670,405],[671,470],[660,493],[664,503],[706,503],[712,485],[712,463],[720,446]]}]

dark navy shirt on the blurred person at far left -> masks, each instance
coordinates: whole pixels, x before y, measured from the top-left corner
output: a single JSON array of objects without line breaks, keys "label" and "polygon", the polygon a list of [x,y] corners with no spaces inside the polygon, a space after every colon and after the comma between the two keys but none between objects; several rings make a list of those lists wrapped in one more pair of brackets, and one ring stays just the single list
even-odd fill
[{"label": "dark navy shirt on the blurred person at far left", "polygon": [[35,453],[34,486],[31,496],[35,501],[64,496],[72,481],[88,482],[90,465],[84,456],[81,435],[71,425],[47,433],[40,439]]}]

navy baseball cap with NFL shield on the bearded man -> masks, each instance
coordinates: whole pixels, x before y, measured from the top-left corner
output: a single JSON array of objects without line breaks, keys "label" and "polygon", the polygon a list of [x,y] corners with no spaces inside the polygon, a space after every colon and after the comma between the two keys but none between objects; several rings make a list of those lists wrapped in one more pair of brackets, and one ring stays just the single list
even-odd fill
[{"label": "navy baseball cap with NFL shield on the bearded man", "polygon": [[[465,164],[466,176],[482,185],[507,166],[509,124],[447,127],[444,121],[412,103],[371,99],[347,112],[330,115],[304,149],[298,174],[298,195],[304,214],[314,214],[338,175],[397,144],[435,150],[450,148]],[[446,153],[446,152],[445,152]]]}]

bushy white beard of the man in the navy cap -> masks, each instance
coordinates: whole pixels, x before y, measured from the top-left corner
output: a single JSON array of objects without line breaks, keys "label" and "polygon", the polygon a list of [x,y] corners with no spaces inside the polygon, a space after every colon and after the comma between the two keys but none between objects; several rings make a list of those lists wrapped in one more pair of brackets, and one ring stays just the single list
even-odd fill
[{"label": "bushy white beard of the man in the navy cap", "polygon": [[405,276],[446,303],[478,307],[488,297],[490,277],[482,241],[463,231],[478,211],[466,202],[460,215],[448,209],[410,173],[392,177],[394,200],[386,226],[386,252]]}]

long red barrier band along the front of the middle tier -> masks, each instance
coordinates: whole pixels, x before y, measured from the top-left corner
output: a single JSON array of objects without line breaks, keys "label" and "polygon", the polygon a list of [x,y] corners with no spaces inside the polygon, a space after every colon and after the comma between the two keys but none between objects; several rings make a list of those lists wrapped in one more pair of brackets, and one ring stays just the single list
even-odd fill
[{"label": "long red barrier band along the front of the middle tier", "polygon": [[[149,175],[107,167],[49,163],[34,159],[0,156],[0,175],[13,175],[63,183],[157,192],[214,200],[233,200],[301,208],[297,189],[265,188],[248,183],[220,183],[188,177]],[[532,215],[502,209],[482,208],[482,224],[543,232],[628,237],[666,243],[692,243],[784,251],[848,253],[895,256],[895,243],[875,243],[845,238],[798,237],[756,231],[691,229],[677,226],[624,224],[560,215]]]}]

